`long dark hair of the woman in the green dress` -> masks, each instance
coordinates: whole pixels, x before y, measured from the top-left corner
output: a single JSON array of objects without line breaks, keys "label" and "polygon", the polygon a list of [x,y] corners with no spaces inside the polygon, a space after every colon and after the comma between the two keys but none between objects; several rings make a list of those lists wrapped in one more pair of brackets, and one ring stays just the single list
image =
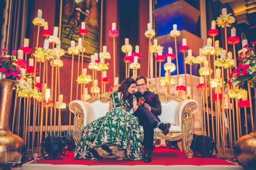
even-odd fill
[{"label": "long dark hair of the woman in the green dress", "polygon": [[129,99],[131,102],[131,94],[128,92],[128,88],[131,86],[131,84],[136,83],[133,78],[126,78],[125,80],[122,81],[121,86],[119,86],[117,92],[121,92],[121,99],[122,101],[125,101]]}]

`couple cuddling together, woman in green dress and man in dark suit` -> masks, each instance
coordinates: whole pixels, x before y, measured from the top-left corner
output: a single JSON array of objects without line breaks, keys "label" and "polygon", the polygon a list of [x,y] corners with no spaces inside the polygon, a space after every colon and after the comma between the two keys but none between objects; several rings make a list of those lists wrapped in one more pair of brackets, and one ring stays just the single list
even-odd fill
[{"label": "couple cuddling together, woman in green dress and man in dark suit", "polygon": [[[135,92],[136,86],[138,92]],[[158,118],[162,109],[158,95],[148,91],[146,77],[139,76],[136,80],[123,80],[111,99],[106,115],[82,130],[75,159],[143,159],[146,163],[151,162],[154,128],[167,134],[171,126],[161,123]],[[143,142],[139,125],[143,126]]]}]

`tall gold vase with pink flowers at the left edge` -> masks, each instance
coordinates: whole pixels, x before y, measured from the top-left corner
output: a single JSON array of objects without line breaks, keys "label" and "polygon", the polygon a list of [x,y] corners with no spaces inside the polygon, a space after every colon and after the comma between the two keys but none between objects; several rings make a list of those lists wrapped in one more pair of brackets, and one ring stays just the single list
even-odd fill
[{"label": "tall gold vase with pink flowers at the left edge", "polygon": [[0,164],[19,163],[24,152],[23,139],[11,133],[9,114],[14,80],[0,80]]}]

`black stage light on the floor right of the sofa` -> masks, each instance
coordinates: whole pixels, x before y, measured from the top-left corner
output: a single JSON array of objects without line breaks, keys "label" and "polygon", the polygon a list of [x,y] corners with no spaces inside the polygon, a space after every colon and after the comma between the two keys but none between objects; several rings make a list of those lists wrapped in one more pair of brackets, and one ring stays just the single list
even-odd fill
[{"label": "black stage light on the floor right of the sofa", "polygon": [[[195,156],[200,154],[202,157],[211,157],[217,156],[218,154],[216,142],[213,141],[211,137],[205,135],[193,135],[191,150],[194,152]],[[213,155],[214,150],[216,153],[215,155]]]}]

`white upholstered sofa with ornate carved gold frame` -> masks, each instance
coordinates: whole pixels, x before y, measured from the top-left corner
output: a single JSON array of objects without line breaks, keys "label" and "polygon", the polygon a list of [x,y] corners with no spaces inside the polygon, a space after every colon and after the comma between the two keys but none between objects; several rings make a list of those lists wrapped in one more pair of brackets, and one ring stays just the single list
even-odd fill
[{"label": "white upholstered sofa with ornate carved gold frame", "polygon": [[[75,114],[74,117],[74,136],[75,143],[79,142],[81,131],[84,126],[105,116],[109,108],[109,96],[105,94],[93,97],[89,101],[73,100],[69,103],[69,111]],[[197,110],[198,104],[195,100],[180,100],[175,95],[159,95],[162,114],[159,116],[160,121],[170,122],[170,133],[164,135],[158,128],[154,130],[155,139],[166,139],[169,141],[181,141],[182,148],[188,158],[192,158],[193,152],[190,149],[193,139],[192,114]],[[142,134],[143,128],[141,126]]]}]

